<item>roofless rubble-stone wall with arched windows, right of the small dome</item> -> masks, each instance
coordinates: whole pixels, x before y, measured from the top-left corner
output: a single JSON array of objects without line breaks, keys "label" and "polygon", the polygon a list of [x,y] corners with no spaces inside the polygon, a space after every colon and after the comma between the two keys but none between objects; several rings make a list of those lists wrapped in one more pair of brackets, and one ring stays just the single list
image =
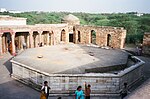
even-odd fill
[{"label": "roofless rubble-stone wall with arched windows, right of the small dome", "polygon": [[[123,28],[116,27],[98,27],[98,26],[81,26],[76,25],[74,31],[74,42],[78,42],[78,31],[80,31],[81,44],[90,44],[91,43],[91,31],[96,32],[96,44],[100,47],[108,46],[113,48],[124,48],[126,30]],[[108,41],[108,35],[111,36],[111,39]],[[109,42],[109,44],[108,44]]]}]

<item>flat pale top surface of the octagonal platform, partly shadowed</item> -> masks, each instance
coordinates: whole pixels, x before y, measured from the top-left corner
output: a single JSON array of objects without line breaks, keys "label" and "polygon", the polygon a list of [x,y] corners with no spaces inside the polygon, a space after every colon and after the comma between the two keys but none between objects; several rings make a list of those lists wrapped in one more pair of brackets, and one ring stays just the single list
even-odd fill
[{"label": "flat pale top surface of the octagonal platform, partly shadowed", "polygon": [[49,74],[83,74],[122,69],[127,59],[128,54],[119,49],[62,44],[27,49],[13,60]]}]

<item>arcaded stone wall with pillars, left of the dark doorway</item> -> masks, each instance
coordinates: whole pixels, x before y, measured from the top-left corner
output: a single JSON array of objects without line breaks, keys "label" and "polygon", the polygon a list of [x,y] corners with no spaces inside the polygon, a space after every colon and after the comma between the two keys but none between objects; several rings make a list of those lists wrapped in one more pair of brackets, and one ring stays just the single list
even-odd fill
[{"label": "arcaded stone wall with pillars, left of the dark doorway", "polygon": [[[5,34],[10,34],[11,40],[13,41],[12,54],[16,55],[16,49],[22,49],[23,38],[26,38],[22,33],[27,35],[27,48],[38,47],[39,43],[42,42],[43,45],[57,45],[61,41],[61,33],[63,33],[63,43],[69,43],[69,32],[68,24],[36,24],[36,25],[24,25],[24,26],[0,26],[0,54],[6,53],[8,50],[7,36]],[[17,35],[16,35],[17,34]],[[14,37],[14,38],[12,38]],[[16,48],[15,42],[20,42],[19,48]],[[4,49],[4,51],[2,50]]]}]

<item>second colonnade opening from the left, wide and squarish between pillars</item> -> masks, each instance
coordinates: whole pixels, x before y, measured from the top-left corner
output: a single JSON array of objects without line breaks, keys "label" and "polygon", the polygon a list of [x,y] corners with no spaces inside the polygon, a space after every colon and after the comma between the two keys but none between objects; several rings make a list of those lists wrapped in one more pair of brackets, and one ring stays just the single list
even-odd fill
[{"label": "second colonnade opening from the left, wide and squarish between pillars", "polygon": [[29,48],[29,32],[16,32],[15,35],[16,52]]}]

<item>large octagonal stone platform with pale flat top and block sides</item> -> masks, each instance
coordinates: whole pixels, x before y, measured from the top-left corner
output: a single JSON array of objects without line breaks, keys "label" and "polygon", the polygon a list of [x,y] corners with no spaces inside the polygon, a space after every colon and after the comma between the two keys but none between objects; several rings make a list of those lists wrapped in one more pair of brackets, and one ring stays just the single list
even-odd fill
[{"label": "large octagonal stone platform with pale flat top and block sides", "polygon": [[73,95],[77,86],[91,84],[92,95],[119,98],[143,77],[144,62],[122,50],[61,44],[25,50],[11,60],[17,80],[40,89],[46,80],[50,95]]}]

